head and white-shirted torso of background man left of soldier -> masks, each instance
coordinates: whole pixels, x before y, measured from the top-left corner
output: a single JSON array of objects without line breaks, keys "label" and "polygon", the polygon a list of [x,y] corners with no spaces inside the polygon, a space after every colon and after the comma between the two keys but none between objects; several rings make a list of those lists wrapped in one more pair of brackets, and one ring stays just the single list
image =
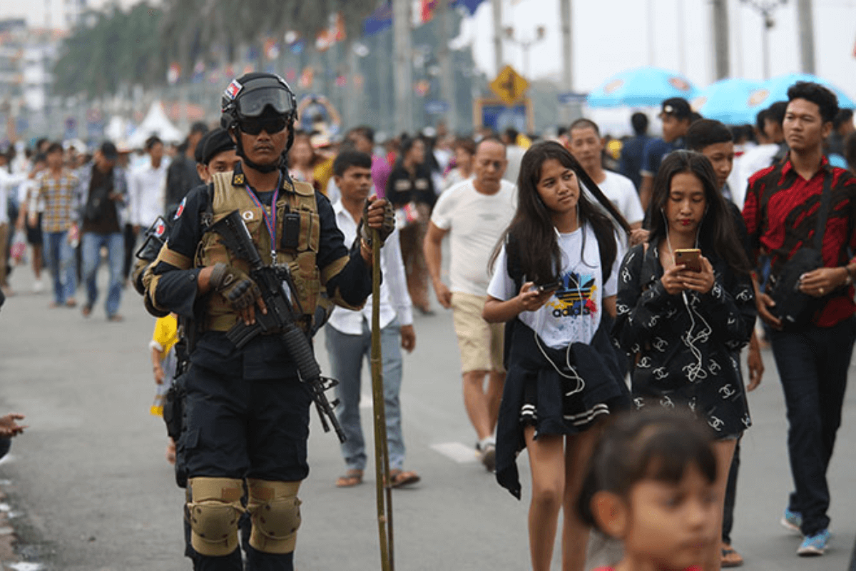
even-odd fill
[{"label": "head and white-shirted torso of background man left of soldier", "polygon": [[134,234],[145,239],[144,233],[158,216],[163,214],[166,170],[169,167],[163,158],[163,142],[157,136],[146,140],[148,164],[135,169],[128,184],[128,208]]}]

